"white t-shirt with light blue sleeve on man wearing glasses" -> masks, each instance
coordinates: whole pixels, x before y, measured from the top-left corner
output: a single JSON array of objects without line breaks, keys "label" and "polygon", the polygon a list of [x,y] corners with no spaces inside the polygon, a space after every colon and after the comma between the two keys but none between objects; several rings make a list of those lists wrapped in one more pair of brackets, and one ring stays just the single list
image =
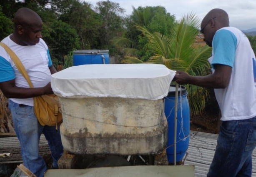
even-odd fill
[{"label": "white t-shirt with light blue sleeve on man wearing glasses", "polygon": [[232,67],[225,89],[214,89],[221,120],[245,120],[256,116],[256,61],[248,38],[234,27],[223,27],[213,37],[214,64]]}]

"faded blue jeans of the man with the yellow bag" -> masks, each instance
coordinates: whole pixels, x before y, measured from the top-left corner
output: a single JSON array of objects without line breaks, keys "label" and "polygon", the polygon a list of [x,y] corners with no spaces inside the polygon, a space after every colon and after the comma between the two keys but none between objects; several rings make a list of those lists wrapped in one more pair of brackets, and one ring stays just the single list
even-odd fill
[{"label": "faded blue jeans of the man with the yellow bag", "polygon": [[52,152],[53,167],[58,168],[58,160],[63,155],[60,129],[55,126],[42,126],[34,114],[33,106],[19,107],[9,100],[9,109],[13,117],[15,132],[20,141],[21,155],[25,167],[37,177],[43,177],[47,170],[43,157],[39,155],[39,140],[43,132]]}]

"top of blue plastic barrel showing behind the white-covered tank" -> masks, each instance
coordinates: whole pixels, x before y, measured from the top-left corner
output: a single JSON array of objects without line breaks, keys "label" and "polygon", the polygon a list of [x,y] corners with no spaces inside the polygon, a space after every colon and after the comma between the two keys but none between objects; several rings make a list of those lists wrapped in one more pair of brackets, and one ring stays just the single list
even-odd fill
[{"label": "top of blue plastic barrel showing behind the white-covered tank", "polygon": [[109,64],[108,50],[75,50],[73,51],[73,64]]}]

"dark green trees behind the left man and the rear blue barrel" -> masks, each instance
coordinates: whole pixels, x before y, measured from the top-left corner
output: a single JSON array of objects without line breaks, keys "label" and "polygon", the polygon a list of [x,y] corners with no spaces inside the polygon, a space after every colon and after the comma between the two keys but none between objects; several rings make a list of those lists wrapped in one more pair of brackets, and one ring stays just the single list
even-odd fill
[{"label": "dark green trees behind the left man and the rear blue barrel", "polygon": [[73,49],[117,52],[110,40],[124,31],[125,10],[118,3],[100,1],[94,8],[82,0],[1,0],[0,40],[13,32],[13,17],[20,7],[34,10],[43,20],[43,39],[55,67],[65,65],[64,58]]}]

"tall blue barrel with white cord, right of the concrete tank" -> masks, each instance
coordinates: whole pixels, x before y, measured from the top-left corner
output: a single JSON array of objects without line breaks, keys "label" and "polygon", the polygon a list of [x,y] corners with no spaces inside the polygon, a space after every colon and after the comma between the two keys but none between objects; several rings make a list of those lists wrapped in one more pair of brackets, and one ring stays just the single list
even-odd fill
[{"label": "tall blue barrel with white cord, right of the concrete tank", "polygon": [[[171,85],[165,98],[164,113],[168,122],[168,142],[166,154],[169,163],[173,163],[174,143],[174,115],[175,115],[175,85]],[[177,136],[176,136],[176,162],[181,161],[188,150],[190,113],[187,90],[184,86],[178,88]]]}]

